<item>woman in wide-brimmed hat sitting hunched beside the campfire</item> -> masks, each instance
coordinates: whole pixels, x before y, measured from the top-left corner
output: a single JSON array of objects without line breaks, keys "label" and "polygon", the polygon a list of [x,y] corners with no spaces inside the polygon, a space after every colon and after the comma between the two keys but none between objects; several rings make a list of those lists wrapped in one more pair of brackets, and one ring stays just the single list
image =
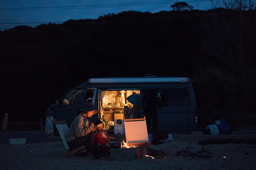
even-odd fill
[{"label": "woman in wide-brimmed hat sitting hunched beside the campfire", "polygon": [[98,112],[95,109],[95,105],[91,102],[85,103],[84,107],[78,110],[78,115],[71,123],[66,135],[67,144],[70,149],[86,145],[86,155],[93,156],[95,127],[93,122],[90,122],[90,117]]}]

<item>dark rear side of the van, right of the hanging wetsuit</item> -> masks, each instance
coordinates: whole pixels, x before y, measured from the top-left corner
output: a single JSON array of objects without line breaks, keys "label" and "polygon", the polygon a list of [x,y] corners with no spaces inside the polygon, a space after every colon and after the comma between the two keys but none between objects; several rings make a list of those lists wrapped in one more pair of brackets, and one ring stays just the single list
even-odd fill
[{"label": "dark rear side of the van, right of the hanging wetsuit", "polygon": [[[143,95],[150,89],[142,89]],[[166,129],[169,133],[183,134],[194,129],[194,106],[191,102],[189,88],[159,88],[151,89],[156,91],[160,100],[160,107],[157,108],[158,128]],[[193,101],[193,100],[192,100]],[[191,104],[193,103],[193,104]],[[157,106],[155,106],[157,107]],[[147,120],[152,123],[152,120]],[[191,123],[192,122],[192,123]],[[150,123],[150,124],[151,124]],[[188,127],[189,125],[189,127]],[[153,132],[152,127],[150,132]]]}]

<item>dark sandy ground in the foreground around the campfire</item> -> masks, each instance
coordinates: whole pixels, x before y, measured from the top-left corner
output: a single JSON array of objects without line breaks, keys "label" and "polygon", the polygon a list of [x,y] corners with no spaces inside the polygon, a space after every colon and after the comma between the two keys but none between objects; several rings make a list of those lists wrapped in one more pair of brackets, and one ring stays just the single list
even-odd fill
[{"label": "dark sandy ground in the foreground around the campfire", "polygon": [[[149,147],[159,151],[169,150],[175,152],[182,151],[183,147],[186,148],[187,146],[191,146],[189,148],[191,152],[202,150],[202,145],[198,144],[198,139],[201,139],[198,135],[173,137],[174,141],[164,142],[164,144],[160,145],[151,144]],[[207,138],[207,136],[204,137]],[[210,145],[205,145],[205,147],[208,146]],[[62,158],[65,147],[60,141],[37,144],[1,144],[0,167],[3,170],[96,170],[99,168],[118,170],[255,169],[255,144],[213,144],[208,150],[212,153],[212,158],[189,157],[181,154],[180,156],[166,155],[167,159],[145,157],[134,161],[110,161],[110,156],[102,156],[99,159],[81,156],[75,156],[73,159]]]}]

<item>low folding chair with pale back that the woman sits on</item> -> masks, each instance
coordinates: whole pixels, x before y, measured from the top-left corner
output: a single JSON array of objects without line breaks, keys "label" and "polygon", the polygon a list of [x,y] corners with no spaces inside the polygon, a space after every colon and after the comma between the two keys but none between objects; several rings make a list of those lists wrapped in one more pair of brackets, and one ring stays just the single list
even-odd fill
[{"label": "low folding chair with pale back that the woman sits on", "polygon": [[54,119],[54,124],[57,127],[57,130],[60,134],[60,137],[62,139],[62,142],[66,148],[66,153],[63,155],[63,157],[67,157],[69,156],[70,158],[72,158],[74,156],[75,153],[77,153],[80,150],[83,150],[85,148],[85,145],[81,145],[79,147],[76,147],[75,149],[69,149],[69,146],[67,144],[66,141],[66,134],[68,133],[69,127],[66,123],[66,121],[63,119],[62,121],[57,121],[56,119]]}]

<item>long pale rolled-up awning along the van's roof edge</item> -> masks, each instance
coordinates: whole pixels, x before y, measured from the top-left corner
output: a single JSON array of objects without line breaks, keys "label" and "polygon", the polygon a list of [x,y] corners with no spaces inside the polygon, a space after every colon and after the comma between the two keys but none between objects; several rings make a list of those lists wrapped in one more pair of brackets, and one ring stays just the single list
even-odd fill
[{"label": "long pale rolled-up awning along the van's roof edge", "polygon": [[168,82],[188,82],[188,77],[103,77],[90,78],[89,83],[168,83]]}]

